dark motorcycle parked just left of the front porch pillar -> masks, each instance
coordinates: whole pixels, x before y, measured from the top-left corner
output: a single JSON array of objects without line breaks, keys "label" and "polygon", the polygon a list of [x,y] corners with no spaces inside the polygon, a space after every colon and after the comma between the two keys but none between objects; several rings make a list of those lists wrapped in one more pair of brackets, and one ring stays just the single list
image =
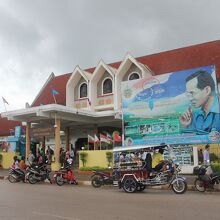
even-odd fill
[{"label": "dark motorcycle parked just left of the front porch pillar", "polygon": [[50,178],[51,170],[47,169],[47,163],[40,166],[34,165],[27,169],[26,178],[30,184],[35,184],[40,181],[45,181],[46,179],[52,184]]}]

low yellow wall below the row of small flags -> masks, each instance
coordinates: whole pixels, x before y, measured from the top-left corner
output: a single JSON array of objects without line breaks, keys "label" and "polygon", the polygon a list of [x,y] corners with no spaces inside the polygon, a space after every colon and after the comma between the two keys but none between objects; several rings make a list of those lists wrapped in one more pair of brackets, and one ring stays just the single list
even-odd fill
[{"label": "low yellow wall below the row of small flags", "polygon": [[[79,154],[82,151],[79,152]],[[106,158],[106,152],[112,152],[112,150],[92,150],[92,151],[83,151],[86,152],[87,155],[87,162],[85,163],[85,167],[108,167],[108,160]],[[80,160],[79,156],[79,168],[83,167],[82,161]]]}]

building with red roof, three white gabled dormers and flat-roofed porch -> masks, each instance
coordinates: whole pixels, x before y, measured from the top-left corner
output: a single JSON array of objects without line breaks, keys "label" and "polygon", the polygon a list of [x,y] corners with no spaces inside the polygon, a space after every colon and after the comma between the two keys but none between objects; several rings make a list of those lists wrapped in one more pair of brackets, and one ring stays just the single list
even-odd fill
[{"label": "building with red roof, three white gabled dormers and flat-roofed porch", "polygon": [[128,53],[119,62],[100,60],[86,70],[76,66],[71,73],[52,73],[31,106],[1,115],[27,123],[26,156],[31,140],[54,145],[56,169],[61,147],[81,149],[88,135],[122,132],[122,82],[210,65],[219,88],[220,40],[137,58]]}]

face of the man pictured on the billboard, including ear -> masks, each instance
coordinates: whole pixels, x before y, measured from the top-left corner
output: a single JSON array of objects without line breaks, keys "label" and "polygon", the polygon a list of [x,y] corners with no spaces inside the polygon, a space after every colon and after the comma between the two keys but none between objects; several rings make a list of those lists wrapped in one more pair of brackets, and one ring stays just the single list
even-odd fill
[{"label": "face of the man pictured on the billboard, including ear", "polygon": [[197,78],[193,78],[186,83],[186,95],[189,98],[192,106],[195,108],[204,106],[211,92],[209,86],[201,90],[197,88],[197,85]]}]

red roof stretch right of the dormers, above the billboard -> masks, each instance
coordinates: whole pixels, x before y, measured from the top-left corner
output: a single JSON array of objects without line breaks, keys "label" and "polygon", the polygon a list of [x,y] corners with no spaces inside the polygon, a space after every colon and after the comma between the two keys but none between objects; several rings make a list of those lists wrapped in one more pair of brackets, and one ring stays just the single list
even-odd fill
[{"label": "red roof stretch right of the dormers, above the billboard", "polygon": [[136,58],[155,74],[215,65],[220,78],[220,40]]}]

